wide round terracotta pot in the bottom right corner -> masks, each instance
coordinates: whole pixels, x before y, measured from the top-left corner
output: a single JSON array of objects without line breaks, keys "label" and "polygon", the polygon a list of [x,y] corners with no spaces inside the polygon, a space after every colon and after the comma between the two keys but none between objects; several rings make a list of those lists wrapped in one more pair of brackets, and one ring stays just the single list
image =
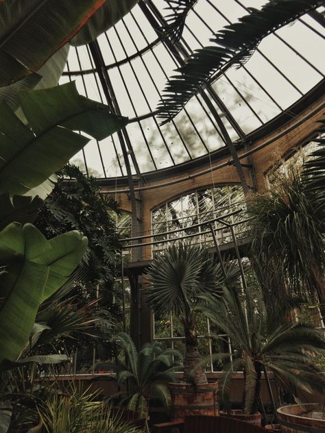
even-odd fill
[{"label": "wide round terracotta pot in the bottom right corner", "polygon": [[283,433],[325,432],[325,419],[302,417],[306,412],[317,410],[318,404],[292,404],[278,409],[278,421]]}]

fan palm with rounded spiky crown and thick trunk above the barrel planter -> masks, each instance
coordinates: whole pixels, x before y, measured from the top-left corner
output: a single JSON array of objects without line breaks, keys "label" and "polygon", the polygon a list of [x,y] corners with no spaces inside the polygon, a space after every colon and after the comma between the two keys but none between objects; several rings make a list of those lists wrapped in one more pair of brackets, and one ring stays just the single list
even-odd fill
[{"label": "fan palm with rounded spiky crown and thick trunk above the barrel planter", "polygon": [[[224,264],[228,278],[237,277],[237,269]],[[171,245],[163,256],[158,256],[149,267],[147,299],[155,314],[173,312],[184,327],[186,352],[184,355],[184,380],[195,384],[207,383],[204,368],[193,367],[200,362],[197,343],[197,314],[200,295],[209,293],[218,297],[225,277],[221,264],[209,256],[206,249],[180,244]]]}]

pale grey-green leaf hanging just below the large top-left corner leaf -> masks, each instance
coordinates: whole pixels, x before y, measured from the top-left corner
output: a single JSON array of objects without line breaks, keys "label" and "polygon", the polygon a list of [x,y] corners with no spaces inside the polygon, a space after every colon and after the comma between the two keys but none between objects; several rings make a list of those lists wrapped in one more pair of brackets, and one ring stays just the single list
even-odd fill
[{"label": "pale grey-green leaf hanging just below the large top-left corner leaf", "polygon": [[62,75],[65,64],[67,63],[69,44],[64,45],[61,49],[47,60],[37,73],[28,75],[10,86],[0,88],[0,100],[8,103],[12,110],[19,106],[17,92],[25,88],[49,88],[56,86]]}]

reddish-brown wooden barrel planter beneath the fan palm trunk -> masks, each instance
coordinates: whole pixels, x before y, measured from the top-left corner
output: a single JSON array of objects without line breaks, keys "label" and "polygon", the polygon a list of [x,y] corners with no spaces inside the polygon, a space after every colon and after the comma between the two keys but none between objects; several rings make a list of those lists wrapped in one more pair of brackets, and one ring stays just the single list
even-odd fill
[{"label": "reddish-brown wooden barrel planter beneath the fan palm trunk", "polygon": [[172,419],[189,415],[219,415],[217,382],[210,384],[169,384]]}]

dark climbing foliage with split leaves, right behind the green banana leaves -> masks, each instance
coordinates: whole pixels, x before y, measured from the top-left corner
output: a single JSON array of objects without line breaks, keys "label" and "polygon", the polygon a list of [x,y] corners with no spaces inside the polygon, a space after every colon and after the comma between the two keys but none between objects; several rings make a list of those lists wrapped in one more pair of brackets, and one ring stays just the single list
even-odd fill
[{"label": "dark climbing foliage with split leaves, right behind the green banana leaves", "polygon": [[88,237],[82,262],[88,272],[82,280],[93,292],[100,283],[99,296],[105,296],[105,290],[112,287],[121,261],[114,218],[117,212],[117,202],[101,193],[94,177],[67,165],[58,173],[58,183],[35,221],[48,238],[67,230],[79,230]]}]

